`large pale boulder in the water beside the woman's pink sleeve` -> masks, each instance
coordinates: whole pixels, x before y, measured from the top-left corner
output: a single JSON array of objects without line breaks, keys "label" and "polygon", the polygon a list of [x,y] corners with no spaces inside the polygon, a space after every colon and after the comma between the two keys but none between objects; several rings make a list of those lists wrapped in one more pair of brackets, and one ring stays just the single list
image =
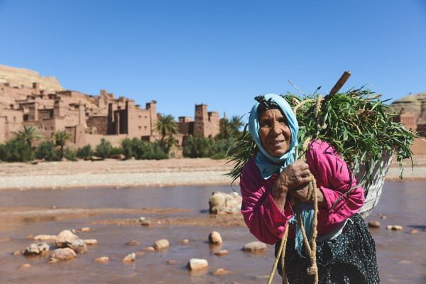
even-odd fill
[{"label": "large pale boulder in the water beside the woman's pink sleeve", "polygon": [[238,192],[213,192],[209,198],[209,212],[212,214],[238,213],[242,197]]}]

